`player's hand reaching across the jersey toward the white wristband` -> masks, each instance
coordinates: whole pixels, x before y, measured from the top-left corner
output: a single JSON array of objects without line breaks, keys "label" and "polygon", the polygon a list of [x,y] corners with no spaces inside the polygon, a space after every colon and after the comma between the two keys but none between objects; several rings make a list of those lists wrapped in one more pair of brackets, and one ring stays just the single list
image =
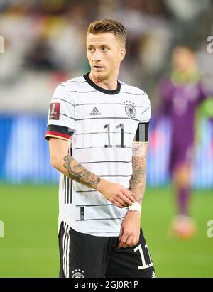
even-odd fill
[{"label": "player's hand reaching across the jersey toward the white wristband", "polygon": [[111,183],[108,180],[101,178],[97,185],[97,190],[104,195],[104,197],[119,208],[129,207],[135,202],[134,193],[127,190],[119,183]]}]

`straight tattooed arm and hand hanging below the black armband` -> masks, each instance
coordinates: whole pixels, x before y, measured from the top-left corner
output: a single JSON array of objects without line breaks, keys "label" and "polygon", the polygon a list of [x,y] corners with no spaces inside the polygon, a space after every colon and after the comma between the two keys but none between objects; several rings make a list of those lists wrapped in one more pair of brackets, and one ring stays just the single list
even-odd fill
[{"label": "straight tattooed arm and hand hanging below the black armband", "polygon": [[[146,149],[147,142],[133,141],[132,168],[129,189],[141,205],[146,188]],[[139,207],[140,207],[139,205]],[[124,217],[119,235],[119,248],[133,247],[139,241],[141,228],[141,212],[129,210]]]}]

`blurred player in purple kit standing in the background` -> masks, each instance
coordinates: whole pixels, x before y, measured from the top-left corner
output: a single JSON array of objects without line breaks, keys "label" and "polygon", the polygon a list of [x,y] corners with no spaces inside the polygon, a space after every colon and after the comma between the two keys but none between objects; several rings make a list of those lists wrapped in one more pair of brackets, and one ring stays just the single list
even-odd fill
[{"label": "blurred player in purple kit standing in the background", "polygon": [[170,173],[175,186],[178,215],[171,228],[175,235],[190,238],[196,232],[195,222],[190,217],[190,177],[195,146],[195,117],[197,107],[209,97],[209,92],[200,80],[195,52],[179,46],[172,54],[170,80],[160,85],[157,119],[162,114],[170,117],[172,133],[170,148]]}]

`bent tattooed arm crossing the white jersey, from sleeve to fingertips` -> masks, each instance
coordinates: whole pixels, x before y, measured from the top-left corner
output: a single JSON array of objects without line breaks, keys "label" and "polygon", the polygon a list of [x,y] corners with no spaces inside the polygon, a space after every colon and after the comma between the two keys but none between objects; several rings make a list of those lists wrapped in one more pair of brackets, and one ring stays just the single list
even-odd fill
[{"label": "bent tattooed arm crossing the white jersey, from sleeve to fingertips", "polygon": [[123,185],[111,183],[92,173],[68,154],[68,142],[62,139],[50,138],[50,163],[68,178],[77,183],[98,190],[104,197],[117,207],[126,207],[135,202],[133,193]]}]

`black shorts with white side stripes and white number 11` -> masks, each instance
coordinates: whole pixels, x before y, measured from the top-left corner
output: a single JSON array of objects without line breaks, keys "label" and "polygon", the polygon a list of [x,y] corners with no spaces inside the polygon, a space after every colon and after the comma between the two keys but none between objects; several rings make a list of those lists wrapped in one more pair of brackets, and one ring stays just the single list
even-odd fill
[{"label": "black shorts with white side stripes and white number 11", "polygon": [[155,278],[142,229],[134,247],[118,249],[118,239],[76,232],[62,222],[60,278]]}]

